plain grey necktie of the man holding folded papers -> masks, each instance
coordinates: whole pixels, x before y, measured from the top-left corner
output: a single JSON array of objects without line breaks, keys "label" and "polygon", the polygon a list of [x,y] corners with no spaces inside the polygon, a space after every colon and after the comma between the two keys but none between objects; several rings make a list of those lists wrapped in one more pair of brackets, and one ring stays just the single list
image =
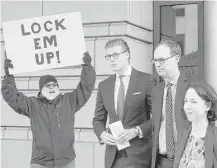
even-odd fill
[{"label": "plain grey necktie of the man holding folded papers", "polygon": [[124,97],[125,97],[125,89],[123,83],[123,76],[119,76],[120,79],[120,87],[118,90],[118,97],[117,97],[117,115],[120,120],[123,117],[123,110],[124,110]]}]

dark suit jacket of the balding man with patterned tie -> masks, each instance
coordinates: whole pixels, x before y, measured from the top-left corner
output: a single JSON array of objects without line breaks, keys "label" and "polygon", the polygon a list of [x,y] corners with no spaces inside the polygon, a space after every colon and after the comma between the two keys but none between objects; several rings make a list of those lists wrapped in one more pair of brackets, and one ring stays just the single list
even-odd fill
[{"label": "dark suit jacket of the balding man with patterned tie", "polygon": [[[177,81],[176,96],[175,96],[175,120],[176,128],[178,132],[178,138],[184,132],[186,126],[190,124],[187,120],[185,113],[182,111],[183,100],[185,92],[187,90],[190,81],[187,80],[186,76],[181,72]],[[152,103],[152,168],[155,168],[159,146],[159,131],[161,124],[163,95],[164,95],[165,82],[161,80],[157,87],[153,88],[153,103]]]}]

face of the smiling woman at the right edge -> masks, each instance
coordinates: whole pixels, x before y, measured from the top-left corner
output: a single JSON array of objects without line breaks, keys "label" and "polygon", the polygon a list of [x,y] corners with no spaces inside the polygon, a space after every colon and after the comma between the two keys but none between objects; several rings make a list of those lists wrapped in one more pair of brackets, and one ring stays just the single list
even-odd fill
[{"label": "face of the smiling woman at the right edge", "polygon": [[184,99],[184,111],[188,120],[191,122],[197,122],[207,119],[208,110],[208,103],[197,94],[195,89],[189,88]]}]

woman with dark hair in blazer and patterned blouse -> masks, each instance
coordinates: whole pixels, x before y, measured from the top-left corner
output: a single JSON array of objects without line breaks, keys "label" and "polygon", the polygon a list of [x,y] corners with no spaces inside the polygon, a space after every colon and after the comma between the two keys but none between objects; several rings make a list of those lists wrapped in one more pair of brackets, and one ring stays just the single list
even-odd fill
[{"label": "woman with dark hair in blazer and patterned blouse", "polygon": [[217,94],[204,80],[189,86],[184,112],[191,125],[180,137],[173,168],[217,168]]}]

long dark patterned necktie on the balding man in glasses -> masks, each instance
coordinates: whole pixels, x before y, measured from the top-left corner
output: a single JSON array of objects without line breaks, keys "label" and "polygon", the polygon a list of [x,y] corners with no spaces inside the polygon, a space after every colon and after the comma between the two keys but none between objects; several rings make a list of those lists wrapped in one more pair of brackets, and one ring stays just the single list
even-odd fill
[{"label": "long dark patterned necktie on the balding man in glasses", "polygon": [[174,157],[175,147],[174,147],[174,136],[173,136],[173,104],[172,104],[172,91],[171,83],[167,83],[167,95],[166,95],[166,149],[167,156],[169,158]]}]

